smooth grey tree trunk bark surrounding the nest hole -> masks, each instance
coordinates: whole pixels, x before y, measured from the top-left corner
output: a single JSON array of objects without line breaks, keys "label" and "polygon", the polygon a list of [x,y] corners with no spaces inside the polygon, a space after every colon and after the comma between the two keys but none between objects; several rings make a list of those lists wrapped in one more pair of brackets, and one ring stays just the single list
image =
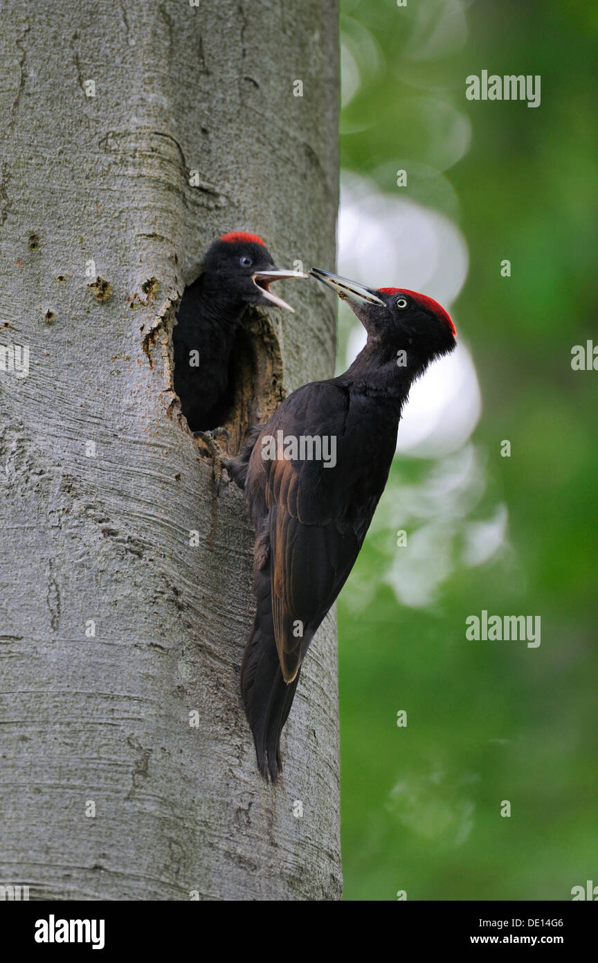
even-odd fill
[{"label": "smooth grey tree trunk bark surrounding the nest hole", "polygon": [[[0,346],[30,371],[4,351],[0,883],[338,898],[334,620],[267,786],[238,690],[253,534],[234,486],[215,498],[170,350],[215,235],[334,267],[336,4],[43,0],[1,19]],[[309,281],[281,291],[296,314],[249,330],[271,323],[289,390],[333,373],[335,306]]]}]

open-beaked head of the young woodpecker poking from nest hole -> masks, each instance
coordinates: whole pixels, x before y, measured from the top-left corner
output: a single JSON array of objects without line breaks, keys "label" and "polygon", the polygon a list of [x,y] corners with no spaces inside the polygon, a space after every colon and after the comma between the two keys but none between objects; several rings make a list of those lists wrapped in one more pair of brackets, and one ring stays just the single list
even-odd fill
[{"label": "open-beaked head of the young woodpecker poking from nest hole", "polygon": [[293,308],[272,294],[270,284],[286,277],[308,276],[300,271],[281,271],[262,238],[243,231],[223,234],[213,242],[204,261],[204,274],[215,293],[225,292],[227,297],[233,295],[246,304],[276,304],[287,311]]}]

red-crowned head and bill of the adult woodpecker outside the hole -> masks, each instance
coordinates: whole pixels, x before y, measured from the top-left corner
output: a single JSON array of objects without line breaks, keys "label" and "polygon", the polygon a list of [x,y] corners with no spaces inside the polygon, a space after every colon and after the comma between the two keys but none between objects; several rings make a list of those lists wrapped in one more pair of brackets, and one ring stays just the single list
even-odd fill
[{"label": "red-crowned head and bill of the adult woodpecker outside the hole", "polygon": [[313,268],[311,275],[347,302],[369,336],[383,339],[394,350],[405,349],[430,361],[453,351],[457,344],[449,315],[426,295],[406,288],[366,288],[319,268]]}]

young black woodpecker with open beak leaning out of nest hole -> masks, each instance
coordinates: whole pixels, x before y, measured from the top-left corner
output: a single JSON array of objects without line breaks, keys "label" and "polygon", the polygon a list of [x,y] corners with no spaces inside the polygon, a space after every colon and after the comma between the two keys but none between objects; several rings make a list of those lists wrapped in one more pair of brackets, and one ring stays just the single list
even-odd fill
[{"label": "young black woodpecker with open beak leaning out of nest hole", "polygon": [[275,304],[272,281],[307,277],[281,271],[262,238],[233,231],[212,243],[203,273],[186,288],[173,332],[174,388],[191,430],[212,429],[226,413],[229,368],[237,327],[248,304]]}]

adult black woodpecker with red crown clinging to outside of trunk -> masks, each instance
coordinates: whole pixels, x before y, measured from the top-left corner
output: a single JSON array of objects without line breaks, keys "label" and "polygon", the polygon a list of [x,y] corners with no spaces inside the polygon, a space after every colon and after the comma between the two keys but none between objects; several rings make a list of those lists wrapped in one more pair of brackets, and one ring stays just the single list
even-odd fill
[{"label": "adult black woodpecker with red crown clinging to outside of trunk", "polygon": [[[311,274],[347,301],[367,331],[365,347],[343,375],[290,394],[227,463],[256,529],[257,611],[240,682],[258,765],[272,781],[301,664],[384,491],[411,384],[456,345],[455,326],[436,300],[405,288],[372,290],[318,269]],[[301,438],[316,436],[328,464],[324,456],[310,458],[309,442],[301,452]]]}]

